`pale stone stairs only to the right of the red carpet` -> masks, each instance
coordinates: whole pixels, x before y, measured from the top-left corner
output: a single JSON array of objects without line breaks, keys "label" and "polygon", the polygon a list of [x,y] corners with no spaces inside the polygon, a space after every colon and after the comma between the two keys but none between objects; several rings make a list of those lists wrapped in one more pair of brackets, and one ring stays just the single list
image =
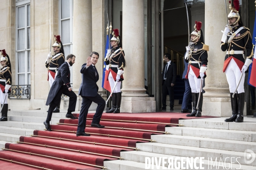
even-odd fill
[{"label": "pale stone stairs only to the right of the red carpet", "polygon": [[[228,123],[224,122],[224,119],[180,120],[179,123],[184,127],[166,127],[166,131],[170,132],[170,135],[152,135],[151,139],[157,142],[137,143],[136,147],[140,148],[140,151],[122,152],[121,156],[125,160],[105,161],[104,166],[109,170],[144,170],[145,157],[150,159],[157,157],[158,161],[160,157],[167,159],[178,157],[178,160],[182,157],[204,157],[202,167],[205,170],[224,170],[231,169],[230,158],[232,157],[232,162],[236,162],[232,164],[232,168],[256,170],[256,160],[250,164],[244,161],[245,150],[250,149],[256,153],[256,119],[245,117],[244,123]],[[165,164],[166,168],[163,168],[162,164],[162,161],[160,167],[154,164],[153,169],[168,167],[168,163]],[[199,167],[199,161],[197,161],[197,166]],[[186,167],[186,163],[184,167]],[[174,169],[181,169],[181,167],[174,167]],[[191,168],[185,169],[190,170]]]}]

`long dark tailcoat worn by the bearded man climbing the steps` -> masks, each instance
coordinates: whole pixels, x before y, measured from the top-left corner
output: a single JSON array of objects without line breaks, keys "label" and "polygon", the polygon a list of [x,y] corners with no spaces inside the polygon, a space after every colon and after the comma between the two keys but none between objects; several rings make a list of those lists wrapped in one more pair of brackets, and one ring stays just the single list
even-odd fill
[{"label": "long dark tailcoat worn by the bearded man climbing the steps", "polygon": [[66,86],[66,88],[71,87],[71,85],[70,85],[70,69],[69,69],[67,62],[64,62],[58,68],[58,73],[57,73],[57,76],[56,76],[54,82],[52,83],[52,87],[51,87],[48,97],[47,97],[46,105],[49,105],[52,102],[52,100],[58,93],[61,86]]}]

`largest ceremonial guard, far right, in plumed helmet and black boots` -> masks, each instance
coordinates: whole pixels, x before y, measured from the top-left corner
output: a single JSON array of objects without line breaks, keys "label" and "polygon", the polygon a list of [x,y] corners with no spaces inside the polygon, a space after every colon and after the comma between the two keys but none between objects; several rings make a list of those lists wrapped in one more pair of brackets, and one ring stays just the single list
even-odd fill
[{"label": "largest ceremonial guard, far right, in plumed helmet and black boots", "polygon": [[[230,2],[230,1],[229,1]],[[239,15],[239,0],[230,4],[229,23],[221,38],[221,50],[227,51],[223,66],[230,88],[232,116],[225,122],[244,121],[244,76],[253,56],[253,43],[250,30],[245,28]],[[246,49],[246,56],[244,50]],[[239,83],[240,82],[240,83]],[[236,90],[237,88],[237,90]]]}]

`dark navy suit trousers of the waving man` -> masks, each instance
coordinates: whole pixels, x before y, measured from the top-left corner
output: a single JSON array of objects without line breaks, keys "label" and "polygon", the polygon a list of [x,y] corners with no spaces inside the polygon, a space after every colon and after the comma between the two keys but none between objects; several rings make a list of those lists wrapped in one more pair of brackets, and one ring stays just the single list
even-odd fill
[{"label": "dark navy suit trousers of the waving man", "polygon": [[93,121],[92,121],[93,123],[96,123],[96,124],[99,124],[102,113],[106,105],[105,100],[99,94],[97,94],[97,96],[95,97],[88,97],[88,96],[81,96],[81,97],[82,97],[82,105],[81,105],[81,111],[78,119],[77,133],[84,132],[88,110],[92,102],[98,104],[96,113],[94,114]]}]

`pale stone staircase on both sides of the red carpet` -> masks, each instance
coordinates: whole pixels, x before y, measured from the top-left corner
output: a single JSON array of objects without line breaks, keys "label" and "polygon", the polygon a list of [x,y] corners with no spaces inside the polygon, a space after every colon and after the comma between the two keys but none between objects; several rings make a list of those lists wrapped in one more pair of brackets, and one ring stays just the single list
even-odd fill
[{"label": "pale stone staircase on both sides of the red carpet", "polygon": [[[53,113],[51,123],[55,125],[59,119],[65,117],[65,114],[66,111]],[[0,148],[5,147],[6,142],[19,141],[20,136],[29,136],[33,130],[43,130],[46,116],[47,112],[41,110],[9,111],[9,121],[0,122]],[[250,149],[256,153],[256,119],[244,117],[244,123],[228,123],[224,122],[224,119],[180,120],[179,123],[184,127],[166,127],[166,131],[171,134],[152,135],[151,139],[157,142],[137,143],[136,147],[140,148],[140,151],[121,152],[120,156],[125,160],[104,161],[104,166],[108,170],[144,170],[146,157],[150,159],[156,157],[158,161],[163,157],[173,160],[176,158],[179,163],[181,163],[180,159],[184,158],[185,165],[187,161],[185,157],[204,157],[202,167],[205,170],[222,170],[230,167],[230,158],[235,157],[232,162],[236,163],[232,164],[232,168],[256,170],[256,160],[250,164],[244,161],[247,160],[244,157],[245,150]],[[237,163],[236,158],[240,164]],[[211,163],[215,163],[215,166],[211,167]],[[165,169],[162,165],[163,161],[160,161],[160,167],[157,167],[154,161],[154,168],[151,166],[150,169]],[[167,168],[168,163],[164,163],[164,166]],[[199,167],[199,160],[196,161],[196,166]]]}]

